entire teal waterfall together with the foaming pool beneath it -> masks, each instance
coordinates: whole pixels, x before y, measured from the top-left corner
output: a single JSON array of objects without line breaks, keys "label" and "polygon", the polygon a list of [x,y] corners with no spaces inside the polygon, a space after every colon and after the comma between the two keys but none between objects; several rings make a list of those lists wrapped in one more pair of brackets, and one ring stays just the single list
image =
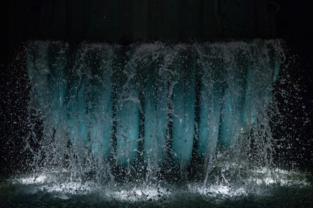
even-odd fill
[{"label": "entire teal waterfall together with the foaming pool beneath it", "polygon": [[311,176],[272,162],[279,40],[31,42],[26,54],[31,160],[1,183],[1,204],[310,206]]}]

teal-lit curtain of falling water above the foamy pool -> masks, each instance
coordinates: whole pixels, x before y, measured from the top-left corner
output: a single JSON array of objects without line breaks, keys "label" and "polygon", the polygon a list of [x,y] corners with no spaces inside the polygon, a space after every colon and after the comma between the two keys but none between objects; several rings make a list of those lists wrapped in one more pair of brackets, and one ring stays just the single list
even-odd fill
[{"label": "teal-lit curtain of falling water above the foamy pool", "polygon": [[29,111],[37,119],[30,122],[42,122],[43,132],[28,137],[38,146],[36,170],[149,181],[201,166],[196,175],[207,180],[213,161],[230,160],[230,152],[268,161],[279,41],[35,41],[26,50]]}]

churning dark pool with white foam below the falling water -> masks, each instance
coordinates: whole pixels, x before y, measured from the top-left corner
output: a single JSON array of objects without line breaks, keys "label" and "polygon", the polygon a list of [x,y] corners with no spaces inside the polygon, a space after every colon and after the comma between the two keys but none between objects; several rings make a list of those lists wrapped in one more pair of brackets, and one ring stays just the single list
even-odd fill
[{"label": "churning dark pool with white foam below the falling water", "polygon": [[[64,170],[66,171],[66,170]],[[312,176],[281,169],[248,170],[236,181],[127,184],[24,175],[0,184],[3,207],[310,207]]]}]

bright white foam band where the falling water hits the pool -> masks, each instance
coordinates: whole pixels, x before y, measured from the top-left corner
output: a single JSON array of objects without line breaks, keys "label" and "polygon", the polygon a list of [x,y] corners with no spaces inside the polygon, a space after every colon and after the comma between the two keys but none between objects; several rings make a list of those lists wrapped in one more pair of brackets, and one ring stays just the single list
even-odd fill
[{"label": "bright white foam band where the falling water hits the pool", "polygon": [[[65,170],[66,171],[66,170]],[[200,195],[204,198],[219,197],[233,198],[247,196],[248,194],[271,195],[272,187],[310,186],[304,174],[281,169],[256,169],[248,170],[249,178],[242,178],[235,184],[227,181],[222,183],[203,185],[200,182],[189,182],[180,185],[166,184],[149,186],[142,184],[127,184],[112,186],[112,184],[101,184],[96,182],[73,181],[57,182],[55,172],[45,172],[36,177],[25,176],[12,181],[13,184],[30,185],[25,190],[29,194],[49,193],[52,197],[68,199],[74,195],[97,194],[105,200],[115,201],[158,201],[164,198],[175,199],[176,196],[187,196],[188,194]],[[239,185],[238,185],[239,184]],[[266,191],[264,188],[268,187]]]}]

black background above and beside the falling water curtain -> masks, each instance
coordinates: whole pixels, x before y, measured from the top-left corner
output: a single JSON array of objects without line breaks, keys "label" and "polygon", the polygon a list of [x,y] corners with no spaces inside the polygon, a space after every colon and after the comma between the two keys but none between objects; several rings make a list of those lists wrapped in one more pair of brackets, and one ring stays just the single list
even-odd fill
[{"label": "black background above and beside the falling water curtain", "polygon": [[[274,137],[285,140],[275,143],[280,148],[275,147],[273,158],[285,168],[312,171],[313,1],[273,0],[280,6],[277,13],[275,4],[265,0],[213,2],[2,0],[0,176],[23,170],[27,158],[22,154],[23,139],[29,131],[25,121],[30,89],[25,63],[20,61],[24,44],[28,40],[48,39],[128,45],[156,40],[215,42],[280,38],[285,42],[287,56],[281,76],[290,83],[277,86],[289,94],[277,95],[283,127],[273,129]],[[306,118],[310,122],[304,124]]]}]

